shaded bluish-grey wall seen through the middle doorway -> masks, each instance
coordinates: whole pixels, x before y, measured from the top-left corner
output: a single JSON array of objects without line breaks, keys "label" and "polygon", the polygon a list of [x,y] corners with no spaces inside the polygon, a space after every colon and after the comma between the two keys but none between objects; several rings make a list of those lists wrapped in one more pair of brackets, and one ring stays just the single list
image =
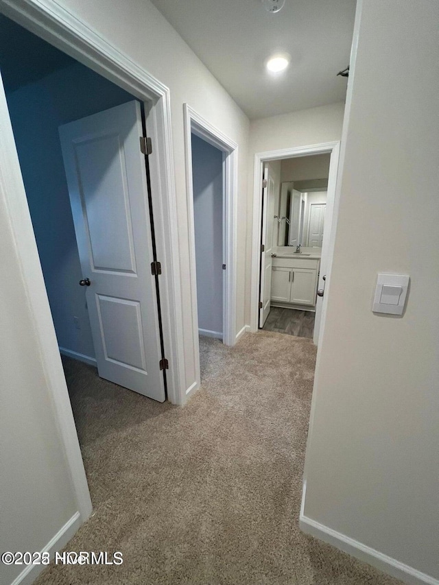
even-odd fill
[{"label": "shaded bluish-grey wall seen through the middle doorway", "polygon": [[222,152],[192,134],[198,327],[223,333]]}]

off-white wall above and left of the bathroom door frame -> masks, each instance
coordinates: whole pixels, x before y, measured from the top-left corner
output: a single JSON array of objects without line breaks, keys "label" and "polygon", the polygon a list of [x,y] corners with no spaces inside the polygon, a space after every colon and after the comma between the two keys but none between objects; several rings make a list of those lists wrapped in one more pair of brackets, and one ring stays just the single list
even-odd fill
[{"label": "off-white wall above and left of the bathroom door frame", "polygon": [[[343,82],[343,80],[341,80]],[[253,120],[248,150],[248,210],[246,263],[246,323],[250,324],[250,274],[254,154],[339,141],[342,137],[344,103],[310,108],[281,116]]]}]

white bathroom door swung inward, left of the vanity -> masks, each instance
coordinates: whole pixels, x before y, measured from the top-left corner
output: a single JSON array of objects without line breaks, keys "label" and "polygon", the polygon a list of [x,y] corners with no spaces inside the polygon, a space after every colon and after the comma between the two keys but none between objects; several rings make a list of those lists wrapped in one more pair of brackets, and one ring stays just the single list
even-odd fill
[{"label": "white bathroom door swung inward, left of the vanity", "polygon": [[261,292],[259,298],[259,327],[263,327],[270,313],[272,294],[272,251],[274,225],[274,178],[270,165],[265,165],[262,214],[262,246],[261,246]]}]

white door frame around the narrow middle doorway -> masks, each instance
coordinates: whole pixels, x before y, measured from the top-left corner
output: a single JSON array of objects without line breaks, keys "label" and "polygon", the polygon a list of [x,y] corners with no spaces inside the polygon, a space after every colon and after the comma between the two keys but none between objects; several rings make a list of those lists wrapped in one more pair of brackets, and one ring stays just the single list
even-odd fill
[{"label": "white door frame around the narrow middle doorway", "polygon": [[223,278],[223,343],[236,343],[236,208],[238,184],[238,145],[217,130],[188,104],[183,104],[186,154],[186,204],[189,219],[189,274],[191,279],[191,314],[195,359],[196,389],[200,385],[200,347],[198,343],[197,276],[195,263],[195,225],[193,216],[192,141],[195,134],[223,154],[223,258],[226,270]]}]

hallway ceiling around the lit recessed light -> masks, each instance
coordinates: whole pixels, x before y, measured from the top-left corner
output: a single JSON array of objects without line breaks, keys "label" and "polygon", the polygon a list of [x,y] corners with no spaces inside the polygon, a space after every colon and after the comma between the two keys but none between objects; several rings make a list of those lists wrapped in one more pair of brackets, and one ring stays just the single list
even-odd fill
[{"label": "hallway ceiling around the lit recessed light", "polygon": [[[250,119],[344,101],[355,0],[152,0]],[[282,74],[265,70],[286,51]]]}]

